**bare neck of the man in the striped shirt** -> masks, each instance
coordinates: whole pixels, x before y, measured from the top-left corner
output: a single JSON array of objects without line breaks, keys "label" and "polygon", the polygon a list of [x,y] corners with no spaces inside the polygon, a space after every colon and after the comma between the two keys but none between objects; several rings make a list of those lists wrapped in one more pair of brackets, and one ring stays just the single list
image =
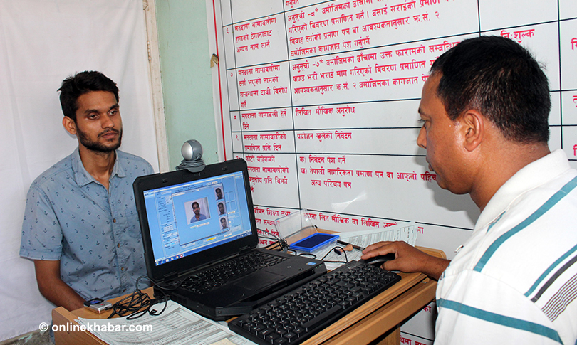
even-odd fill
[{"label": "bare neck of the man in the striped shirt", "polygon": [[495,193],[509,181],[517,171],[543,158],[551,151],[546,143],[507,143],[485,156],[482,169],[477,174],[477,183],[470,192],[474,203],[484,210]]}]

